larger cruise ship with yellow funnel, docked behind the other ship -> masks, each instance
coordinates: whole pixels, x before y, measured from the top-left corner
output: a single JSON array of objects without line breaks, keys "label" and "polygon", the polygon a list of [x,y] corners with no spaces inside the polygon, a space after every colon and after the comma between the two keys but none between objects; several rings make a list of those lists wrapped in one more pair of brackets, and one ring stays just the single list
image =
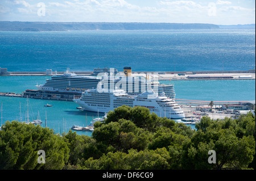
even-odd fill
[{"label": "larger cruise ship with yellow funnel, docked behind the other ship", "polygon": [[[155,85],[158,87],[157,91],[159,94],[165,92],[166,96],[171,99],[175,99],[175,90],[174,85],[164,85],[159,82],[151,82],[145,78],[141,77],[123,77],[116,76],[114,79],[114,89],[123,89],[122,87],[115,86],[120,82],[121,79],[126,81],[126,88],[124,89],[126,92],[141,94],[146,89],[148,84],[151,87]],[[131,90],[128,79],[131,79]],[[110,80],[104,80],[102,77],[92,76],[92,75],[76,75],[75,73],[71,73],[69,69],[65,71],[62,75],[53,75],[51,79],[46,79],[46,83],[44,85],[36,85],[39,91],[42,91],[42,95],[47,97],[49,94],[70,94],[71,97],[73,94],[81,95],[82,92],[88,89],[97,89],[98,83],[107,82],[110,85]],[[102,87],[103,88],[103,87]],[[110,86],[109,86],[110,88]]]}]

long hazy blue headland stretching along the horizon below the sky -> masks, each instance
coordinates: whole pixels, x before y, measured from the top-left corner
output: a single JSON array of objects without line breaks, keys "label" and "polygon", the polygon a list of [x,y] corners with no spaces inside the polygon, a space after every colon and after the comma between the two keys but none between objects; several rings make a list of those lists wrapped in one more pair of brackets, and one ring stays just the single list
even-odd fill
[{"label": "long hazy blue headland stretching along the horizon below the sky", "polygon": [[109,22],[0,22],[0,31],[79,31],[79,30],[197,30],[218,29],[204,23],[109,23]]}]

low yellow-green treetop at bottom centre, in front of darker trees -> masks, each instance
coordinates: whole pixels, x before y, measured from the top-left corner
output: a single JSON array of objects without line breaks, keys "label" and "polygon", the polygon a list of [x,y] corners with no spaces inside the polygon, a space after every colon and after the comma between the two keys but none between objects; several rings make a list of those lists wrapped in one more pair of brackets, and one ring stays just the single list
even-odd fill
[{"label": "low yellow-green treetop at bottom centre, in front of darker trees", "polygon": [[156,150],[129,150],[129,153],[117,151],[102,155],[100,159],[88,159],[82,169],[123,170],[123,169],[169,169],[170,156],[165,148]]}]

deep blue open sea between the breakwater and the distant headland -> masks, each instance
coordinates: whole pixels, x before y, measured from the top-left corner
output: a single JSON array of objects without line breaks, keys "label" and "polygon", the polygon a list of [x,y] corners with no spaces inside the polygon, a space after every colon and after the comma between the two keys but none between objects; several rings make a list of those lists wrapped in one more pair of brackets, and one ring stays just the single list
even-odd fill
[{"label": "deep blue open sea between the breakwater and the distant headland", "polygon": [[0,32],[0,67],[9,71],[249,70],[255,29]]}]

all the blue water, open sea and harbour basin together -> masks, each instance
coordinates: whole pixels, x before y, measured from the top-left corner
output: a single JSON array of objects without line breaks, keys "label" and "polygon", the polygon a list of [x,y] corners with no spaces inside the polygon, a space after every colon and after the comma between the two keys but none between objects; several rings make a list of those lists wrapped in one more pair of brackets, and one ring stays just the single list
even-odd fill
[{"label": "all the blue water, open sea and harbour basin together", "polygon": [[[174,66],[175,65],[175,66]],[[93,71],[131,66],[133,71],[249,70],[255,68],[255,30],[157,30],[1,32],[0,67],[8,71]],[[0,77],[0,92],[36,89],[49,77]],[[160,81],[174,84],[177,99],[255,100],[255,80]],[[97,113],[79,111],[74,102],[29,99],[55,132],[88,124]],[[3,123],[26,118],[27,99],[0,96]],[[53,107],[44,107],[44,104]],[[100,114],[100,116],[104,116]],[[44,126],[44,123],[43,123]],[[91,132],[78,132],[89,135]]]}]

